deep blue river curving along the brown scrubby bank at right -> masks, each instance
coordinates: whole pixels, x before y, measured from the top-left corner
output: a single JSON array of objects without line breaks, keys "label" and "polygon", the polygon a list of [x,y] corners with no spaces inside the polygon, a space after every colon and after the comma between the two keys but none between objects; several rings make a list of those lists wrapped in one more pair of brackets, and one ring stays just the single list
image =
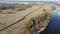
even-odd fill
[{"label": "deep blue river curving along the brown scrubby bank at right", "polygon": [[[58,6],[56,9],[58,9]],[[40,34],[60,34],[60,17],[56,10],[51,10],[50,22]]]}]

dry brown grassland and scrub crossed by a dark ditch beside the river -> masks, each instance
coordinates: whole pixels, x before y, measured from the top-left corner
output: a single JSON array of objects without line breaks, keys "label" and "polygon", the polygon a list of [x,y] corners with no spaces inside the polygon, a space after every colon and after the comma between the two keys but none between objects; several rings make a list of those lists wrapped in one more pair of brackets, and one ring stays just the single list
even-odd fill
[{"label": "dry brown grassland and scrub crossed by a dark ditch beside the river", "polygon": [[[48,25],[56,4],[0,3],[0,34],[38,34]],[[60,15],[60,9],[57,9]]]}]

